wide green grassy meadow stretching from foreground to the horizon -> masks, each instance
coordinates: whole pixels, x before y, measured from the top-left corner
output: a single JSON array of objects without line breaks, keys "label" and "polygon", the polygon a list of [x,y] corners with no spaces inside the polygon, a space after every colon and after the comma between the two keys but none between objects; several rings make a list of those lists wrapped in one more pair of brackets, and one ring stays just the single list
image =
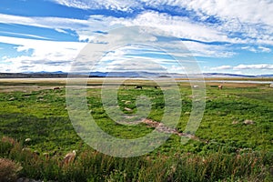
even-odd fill
[{"label": "wide green grassy meadow stretching from foreground to the horizon", "polygon": [[[271,80],[272,81],[272,80]],[[87,86],[87,106],[106,133],[137,138],[152,132],[146,123],[116,125],[101,103],[101,79]],[[115,85],[115,79],[113,79]],[[143,89],[135,89],[141,85]],[[76,134],[66,106],[66,79],[6,79],[0,82],[0,158],[13,161],[14,178],[45,181],[272,181],[273,88],[266,84],[209,82],[200,126],[186,145],[171,135],[161,147],[141,157],[109,157],[94,150]],[[53,89],[54,87],[60,89]],[[136,97],[152,102],[147,119],[160,122],[164,96],[145,80],[128,80],[118,90],[118,106],[127,115],[137,112]],[[179,83],[183,134],[192,106],[192,89]],[[27,139],[29,138],[29,139]],[[64,163],[66,153],[76,157]],[[0,160],[1,162],[1,160]],[[7,177],[7,175],[2,175]]]}]

